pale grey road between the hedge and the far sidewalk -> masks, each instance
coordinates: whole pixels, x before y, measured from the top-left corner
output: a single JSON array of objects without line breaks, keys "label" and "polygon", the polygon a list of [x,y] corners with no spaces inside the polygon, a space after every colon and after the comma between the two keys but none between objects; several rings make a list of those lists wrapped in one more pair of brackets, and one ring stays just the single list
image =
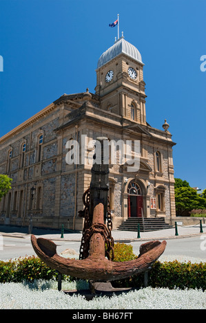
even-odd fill
[{"label": "pale grey road between the hedge and the far sidewalk", "polygon": [[[1,237],[2,238],[2,237]],[[65,249],[74,249],[79,252],[80,241],[54,241],[57,245],[57,253],[60,254]],[[139,247],[145,241],[135,241],[130,244],[133,251],[138,254]],[[3,245],[3,246],[2,246]],[[3,236],[0,243],[0,259],[6,260],[10,258],[18,258],[19,256],[35,255],[30,238],[17,238],[11,236]],[[206,235],[195,236],[191,238],[175,238],[167,240],[167,247],[164,256],[176,255],[186,256],[187,258],[201,258],[206,261]]]}]

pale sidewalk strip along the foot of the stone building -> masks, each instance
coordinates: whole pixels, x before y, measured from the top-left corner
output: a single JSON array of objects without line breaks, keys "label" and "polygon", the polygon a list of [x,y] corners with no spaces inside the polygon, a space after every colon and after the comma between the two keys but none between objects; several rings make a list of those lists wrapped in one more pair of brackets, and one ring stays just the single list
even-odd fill
[{"label": "pale sidewalk strip along the foot of the stone building", "polygon": [[[206,236],[206,225],[203,224],[203,233],[200,233],[200,225],[187,225],[177,227],[178,235],[176,235],[175,228],[157,230],[150,232],[140,232],[140,238],[137,238],[138,232],[135,231],[121,231],[112,230],[112,237],[114,242],[130,242],[130,241],[150,241],[150,240],[167,240],[172,238],[188,238],[191,236]],[[9,227],[0,225],[0,234],[2,236],[12,236],[18,238],[28,238],[28,229],[26,227]],[[61,238],[61,230],[43,230],[34,228],[32,234],[37,238],[47,238],[53,241],[81,241],[82,232],[63,232]]]}]

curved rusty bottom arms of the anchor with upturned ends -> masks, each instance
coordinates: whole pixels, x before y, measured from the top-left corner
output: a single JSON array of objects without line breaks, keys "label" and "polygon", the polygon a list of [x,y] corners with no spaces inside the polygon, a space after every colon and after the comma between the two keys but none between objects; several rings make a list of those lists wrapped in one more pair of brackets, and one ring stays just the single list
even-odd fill
[{"label": "curved rusty bottom arms of the anchor with upturned ends", "polygon": [[[61,274],[96,282],[119,280],[146,271],[163,254],[167,244],[166,241],[151,241],[147,245],[147,252],[139,255],[137,259],[122,263],[103,256],[96,258],[96,253],[83,260],[67,259],[53,254],[55,244],[51,241],[46,242],[47,239],[36,238],[34,235],[31,236],[31,241],[37,256],[52,269]],[[49,246],[52,247],[52,251]]]}]

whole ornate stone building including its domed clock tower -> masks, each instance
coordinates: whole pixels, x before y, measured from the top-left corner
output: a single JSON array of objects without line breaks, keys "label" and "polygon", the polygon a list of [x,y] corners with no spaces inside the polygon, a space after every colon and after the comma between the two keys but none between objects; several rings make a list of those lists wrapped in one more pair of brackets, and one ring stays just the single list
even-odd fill
[{"label": "whole ornate stone building including its domed clock tower", "polygon": [[[48,107],[0,138],[0,173],[12,178],[1,200],[0,223],[82,230],[82,195],[90,185],[91,165],[68,164],[67,143],[80,152],[91,140],[140,142],[140,165],[110,162],[113,227],[127,217],[176,216],[172,135],[146,121],[145,82],[140,52],[122,36],[99,58],[95,93],[63,94]],[[84,135],[84,136],[83,136]],[[86,142],[83,142],[85,138]],[[87,146],[86,154],[92,147]],[[117,155],[119,151],[117,149]],[[133,152],[134,156],[134,152]],[[35,189],[35,190],[33,190]]]}]

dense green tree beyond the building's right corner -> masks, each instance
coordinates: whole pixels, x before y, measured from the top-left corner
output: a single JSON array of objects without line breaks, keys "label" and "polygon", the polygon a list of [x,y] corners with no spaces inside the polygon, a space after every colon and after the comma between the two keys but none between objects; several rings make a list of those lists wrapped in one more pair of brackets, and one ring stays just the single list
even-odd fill
[{"label": "dense green tree beyond the building's right corner", "polygon": [[194,188],[179,187],[175,189],[176,214],[189,215],[189,211],[206,208],[206,199],[200,197]]}]

